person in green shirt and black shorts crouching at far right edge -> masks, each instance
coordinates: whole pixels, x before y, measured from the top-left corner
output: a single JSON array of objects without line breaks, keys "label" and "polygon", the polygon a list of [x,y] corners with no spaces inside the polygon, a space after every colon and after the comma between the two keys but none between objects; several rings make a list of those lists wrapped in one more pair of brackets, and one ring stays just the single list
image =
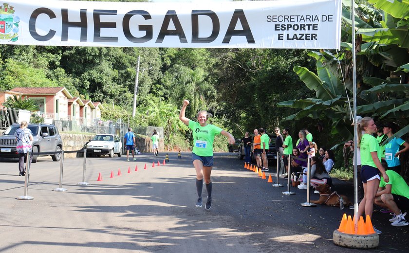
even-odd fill
[{"label": "person in green shirt and black shorts crouching at far right edge", "polygon": [[374,203],[383,208],[389,208],[393,212],[393,217],[389,220],[392,226],[401,227],[409,225],[405,219],[406,212],[409,210],[409,186],[406,181],[395,171],[387,170],[389,182],[385,183],[381,176],[379,189],[376,193]]}]

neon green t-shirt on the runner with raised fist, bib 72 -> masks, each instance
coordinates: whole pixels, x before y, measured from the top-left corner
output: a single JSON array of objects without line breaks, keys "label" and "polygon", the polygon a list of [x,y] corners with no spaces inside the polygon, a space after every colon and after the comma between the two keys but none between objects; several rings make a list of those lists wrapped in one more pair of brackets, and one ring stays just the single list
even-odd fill
[{"label": "neon green t-shirt on the runner with raised fist, bib 72", "polygon": [[196,121],[189,120],[189,128],[193,130],[193,150],[198,156],[213,156],[214,136],[222,132],[222,128],[207,124],[200,126]]}]

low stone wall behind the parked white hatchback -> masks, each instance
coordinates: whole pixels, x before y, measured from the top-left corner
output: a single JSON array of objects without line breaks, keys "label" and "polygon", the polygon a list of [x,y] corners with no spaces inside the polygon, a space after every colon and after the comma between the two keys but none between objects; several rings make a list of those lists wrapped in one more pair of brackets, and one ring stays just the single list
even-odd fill
[{"label": "low stone wall behind the parked white hatchback", "polygon": [[[94,136],[88,134],[60,134],[64,151],[80,150],[89,141],[89,139],[93,138]],[[121,141],[123,142],[123,140]],[[152,141],[150,140],[150,137],[137,136],[136,147],[142,153],[152,152]],[[164,151],[164,149],[164,139],[159,139],[159,151]],[[82,157],[82,153],[66,153],[64,157]]]}]

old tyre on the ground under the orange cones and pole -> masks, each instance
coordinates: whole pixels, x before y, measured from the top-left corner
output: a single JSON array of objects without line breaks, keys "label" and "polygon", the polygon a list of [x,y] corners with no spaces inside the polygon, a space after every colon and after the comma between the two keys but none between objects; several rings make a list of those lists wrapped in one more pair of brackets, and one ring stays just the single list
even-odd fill
[{"label": "old tyre on the ground under the orange cones and pole", "polygon": [[379,235],[351,235],[334,231],[333,241],[335,245],[352,249],[373,249],[379,245]]}]

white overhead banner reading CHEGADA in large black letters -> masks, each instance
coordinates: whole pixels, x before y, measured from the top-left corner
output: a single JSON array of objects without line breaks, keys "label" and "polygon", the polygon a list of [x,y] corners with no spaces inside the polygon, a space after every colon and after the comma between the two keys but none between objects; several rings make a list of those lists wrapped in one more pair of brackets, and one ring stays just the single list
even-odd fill
[{"label": "white overhead banner reading CHEGADA in large black letters", "polygon": [[0,44],[339,49],[341,0],[3,0]]}]

